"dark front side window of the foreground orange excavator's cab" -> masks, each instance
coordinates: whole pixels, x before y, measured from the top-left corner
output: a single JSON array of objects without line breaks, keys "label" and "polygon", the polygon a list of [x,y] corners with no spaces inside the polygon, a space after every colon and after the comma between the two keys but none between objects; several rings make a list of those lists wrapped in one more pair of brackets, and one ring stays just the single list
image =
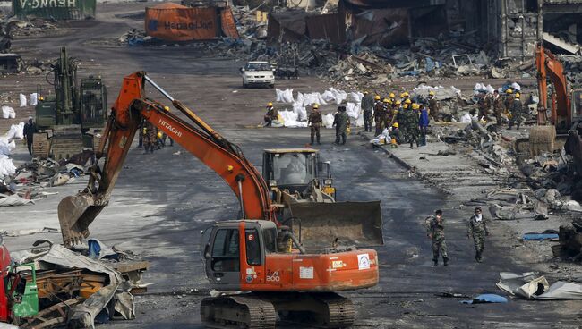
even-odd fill
[{"label": "dark front side window of the foreground orange excavator's cab", "polygon": [[240,271],[239,235],[236,229],[220,229],[212,246],[211,266],[217,272]]}]

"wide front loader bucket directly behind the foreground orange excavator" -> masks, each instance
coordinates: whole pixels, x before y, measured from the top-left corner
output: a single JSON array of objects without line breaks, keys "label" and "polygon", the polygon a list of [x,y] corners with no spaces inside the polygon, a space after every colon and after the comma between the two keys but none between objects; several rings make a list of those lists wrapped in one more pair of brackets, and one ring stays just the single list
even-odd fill
[{"label": "wide front loader bucket directly behind the foreground orange excavator", "polygon": [[[384,244],[380,201],[298,202],[289,205],[293,231],[304,248],[372,247]],[[300,232],[299,232],[300,231]]]}]

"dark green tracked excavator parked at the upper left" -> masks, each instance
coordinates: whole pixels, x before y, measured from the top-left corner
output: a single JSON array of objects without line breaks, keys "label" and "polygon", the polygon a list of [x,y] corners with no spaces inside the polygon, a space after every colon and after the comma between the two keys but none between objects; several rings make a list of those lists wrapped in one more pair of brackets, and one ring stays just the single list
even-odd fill
[{"label": "dark green tracked excavator parked at the upper left", "polygon": [[55,93],[40,95],[35,107],[39,132],[34,135],[33,156],[60,160],[98,145],[107,116],[107,89],[100,77],[78,83],[77,67],[78,61],[62,47],[53,65],[54,82],[49,81]]}]

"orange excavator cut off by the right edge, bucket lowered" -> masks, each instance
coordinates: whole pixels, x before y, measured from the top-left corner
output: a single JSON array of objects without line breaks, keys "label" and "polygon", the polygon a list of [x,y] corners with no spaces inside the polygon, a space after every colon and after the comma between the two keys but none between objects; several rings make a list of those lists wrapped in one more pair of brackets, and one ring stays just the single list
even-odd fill
[{"label": "orange excavator cut off by the right edge, bucket lowered", "polygon": [[574,157],[578,173],[582,173],[582,127],[578,128],[578,123],[582,122],[582,89],[569,88],[560,60],[541,43],[535,47],[535,67],[540,99],[538,125],[532,127],[529,135],[530,152],[532,155],[552,152],[556,148],[556,137],[566,138],[564,148]]}]

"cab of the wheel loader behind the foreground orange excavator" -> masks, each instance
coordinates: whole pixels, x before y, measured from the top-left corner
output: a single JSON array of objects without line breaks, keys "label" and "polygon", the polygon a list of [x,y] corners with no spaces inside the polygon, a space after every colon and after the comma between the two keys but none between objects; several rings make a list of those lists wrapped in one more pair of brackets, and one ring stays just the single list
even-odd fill
[{"label": "cab of the wheel loader behind the foreground orange excavator", "polygon": [[329,162],[321,162],[319,151],[313,148],[265,149],[262,154],[262,177],[271,189],[303,192],[318,180],[323,191],[334,195]]}]

